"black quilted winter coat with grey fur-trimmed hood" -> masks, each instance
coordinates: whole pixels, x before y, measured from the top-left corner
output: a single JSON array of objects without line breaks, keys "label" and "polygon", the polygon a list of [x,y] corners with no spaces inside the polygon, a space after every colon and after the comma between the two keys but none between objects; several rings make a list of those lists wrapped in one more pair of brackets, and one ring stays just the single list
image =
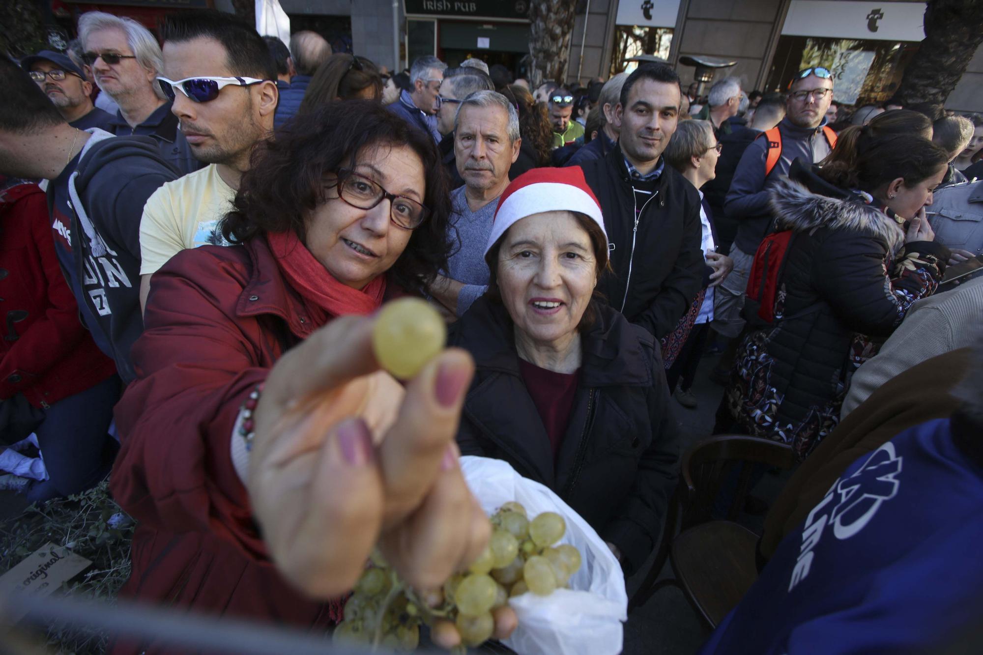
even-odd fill
[{"label": "black quilted winter coat with grey fur-trimmed hood", "polygon": [[877,354],[908,308],[935,292],[949,250],[904,244],[894,216],[830,185],[797,159],[772,192],[791,229],[775,324],[749,334],[727,399],[751,434],[804,458],[838,425],[853,372]]}]

